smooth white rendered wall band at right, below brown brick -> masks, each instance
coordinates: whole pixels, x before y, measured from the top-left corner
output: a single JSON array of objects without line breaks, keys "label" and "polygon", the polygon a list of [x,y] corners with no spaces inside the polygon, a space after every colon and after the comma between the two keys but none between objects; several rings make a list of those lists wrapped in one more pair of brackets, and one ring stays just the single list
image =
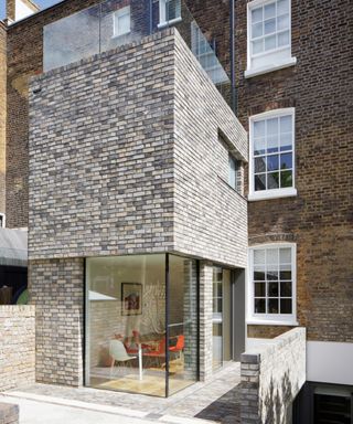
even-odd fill
[{"label": "smooth white rendered wall band at right, below brown brick", "polygon": [[353,385],[353,343],[308,341],[307,381]]}]

